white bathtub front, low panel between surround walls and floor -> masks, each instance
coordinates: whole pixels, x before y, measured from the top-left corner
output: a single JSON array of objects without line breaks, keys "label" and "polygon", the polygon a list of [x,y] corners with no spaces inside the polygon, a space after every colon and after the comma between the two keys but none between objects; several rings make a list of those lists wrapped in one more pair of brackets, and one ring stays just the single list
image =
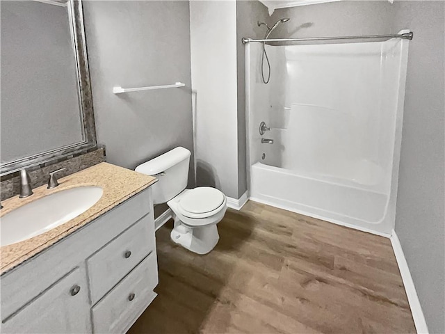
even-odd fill
[{"label": "white bathtub front, low panel between surround walls and floor", "polygon": [[250,199],[365,232],[388,236],[385,193],[302,176],[295,170],[257,162],[250,168]]}]

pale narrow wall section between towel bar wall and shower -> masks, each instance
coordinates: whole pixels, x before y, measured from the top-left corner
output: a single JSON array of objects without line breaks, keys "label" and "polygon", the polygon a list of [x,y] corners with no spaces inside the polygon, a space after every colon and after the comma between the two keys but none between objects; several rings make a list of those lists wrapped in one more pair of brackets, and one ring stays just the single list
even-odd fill
[{"label": "pale narrow wall section between towel bar wall and shower", "polygon": [[235,1],[191,1],[190,31],[197,185],[237,198]]}]

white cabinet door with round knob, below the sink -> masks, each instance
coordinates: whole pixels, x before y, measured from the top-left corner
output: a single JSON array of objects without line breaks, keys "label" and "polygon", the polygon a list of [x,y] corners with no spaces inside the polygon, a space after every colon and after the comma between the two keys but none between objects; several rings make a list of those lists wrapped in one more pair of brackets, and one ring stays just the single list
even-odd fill
[{"label": "white cabinet door with round knob, below the sink", "polygon": [[85,269],[74,269],[5,319],[1,333],[91,333]]}]

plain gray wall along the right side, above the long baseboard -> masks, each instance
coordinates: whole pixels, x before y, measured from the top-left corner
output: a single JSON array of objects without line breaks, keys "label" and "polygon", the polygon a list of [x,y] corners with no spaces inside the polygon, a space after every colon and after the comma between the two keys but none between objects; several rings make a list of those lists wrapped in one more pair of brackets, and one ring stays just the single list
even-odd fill
[{"label": "plain gray wall along the right side, above the long baseboard", "polygon": [[445,333],[443,1],[396,2],[396,29],[414,31],[408,58],[396,233],[430,333]]}]

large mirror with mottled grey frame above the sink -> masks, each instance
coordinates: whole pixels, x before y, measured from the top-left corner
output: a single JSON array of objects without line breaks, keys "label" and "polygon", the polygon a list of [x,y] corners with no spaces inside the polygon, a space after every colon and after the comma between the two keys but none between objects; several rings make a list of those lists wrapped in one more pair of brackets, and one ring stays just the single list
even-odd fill
[{"label": "large mirror with mottled grey frame above the sink", "polygon": [[1,175],[96,145],[81,1],[0,1]]}]

